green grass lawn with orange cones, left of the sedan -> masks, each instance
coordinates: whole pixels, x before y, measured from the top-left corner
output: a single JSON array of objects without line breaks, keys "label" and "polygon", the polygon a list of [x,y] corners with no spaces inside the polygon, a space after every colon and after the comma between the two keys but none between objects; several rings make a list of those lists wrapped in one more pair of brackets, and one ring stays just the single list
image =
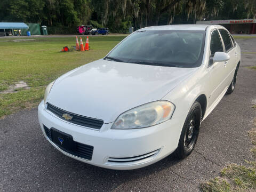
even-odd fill
[{"label": "green grass lawn with orange cones, left of the sedan", "polygon": [[[85,44],[86,37],[83,37]],[[93,36],[90,51],[59,52],[63,46],[75,46],[75,37],[36,38],[35,41],[13,42],[20,38],[0,39],[0,91],[19,81],[31,88],[14,93],[0,93],[0,118],[23,108],[38,105],[47,84],[67,71],[104,57],[125,36]],[[79,38],[79,37],[78,37]]]}]

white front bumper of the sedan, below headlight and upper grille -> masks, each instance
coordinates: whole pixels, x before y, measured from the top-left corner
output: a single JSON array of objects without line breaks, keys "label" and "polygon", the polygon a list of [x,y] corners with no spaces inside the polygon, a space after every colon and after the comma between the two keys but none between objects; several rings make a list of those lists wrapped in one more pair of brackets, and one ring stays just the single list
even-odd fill
[{"label": "white front bumper of the sedan, below headlight and upper grille", "polygon": [[[103,124],[100,130],[89,129],[64,121],[45,110],[44,101],[38,106],[38,119],[46,139],[61,153],[95,166],[116,170],[138,169],[153,164],[171,154],[178,146],[186,117],[133,130],[111,130],[113,123]],[[44,126],[70,134],[74,141],[93,146],[91,160],[60,149],[46,135]]]}]

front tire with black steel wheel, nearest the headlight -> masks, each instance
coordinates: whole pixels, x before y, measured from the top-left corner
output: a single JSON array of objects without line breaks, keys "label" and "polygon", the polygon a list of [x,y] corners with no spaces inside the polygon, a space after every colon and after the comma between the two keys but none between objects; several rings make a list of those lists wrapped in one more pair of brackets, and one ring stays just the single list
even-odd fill
[{"label": "front tire with black steel wheel, nearest the headlight", "polygon": [[202,108],[199,102],[195,101],[189,110],[183,125],[178,147],[175,154],[183,159],[193,151],[199,134],[202,119]]}]

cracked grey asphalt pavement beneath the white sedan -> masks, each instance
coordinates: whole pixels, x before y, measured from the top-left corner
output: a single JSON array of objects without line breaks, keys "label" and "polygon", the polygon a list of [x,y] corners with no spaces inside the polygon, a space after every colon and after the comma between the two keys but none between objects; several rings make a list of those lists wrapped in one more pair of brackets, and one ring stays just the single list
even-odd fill
[{"label": "cracked grey asphalt pavement beneath the white sedan", "polygon": [[256,70],[245,66],[255,65],[256,38],[237,42],[245,53],[235,91],[202,123],[188,158],[178,161],[170,155],[130,171],[87,165],[62,155],[46,141],[37,109],[23,110],[0,120],[0,191],[198,191],[199,183],[217,176],[226,163],[251,160],[247,131],[256,116],[252,108]]}]

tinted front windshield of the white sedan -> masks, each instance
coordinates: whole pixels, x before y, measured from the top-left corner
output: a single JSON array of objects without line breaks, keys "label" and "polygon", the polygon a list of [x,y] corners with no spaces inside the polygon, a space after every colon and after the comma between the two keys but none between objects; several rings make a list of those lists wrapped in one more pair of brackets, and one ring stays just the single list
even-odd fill
[{"label": "tinted front windshield of the white sedan", "polygon": [[137,31],[124,39],[106,60],[169,67],[198,67],[202,63],[205,31]]}]

